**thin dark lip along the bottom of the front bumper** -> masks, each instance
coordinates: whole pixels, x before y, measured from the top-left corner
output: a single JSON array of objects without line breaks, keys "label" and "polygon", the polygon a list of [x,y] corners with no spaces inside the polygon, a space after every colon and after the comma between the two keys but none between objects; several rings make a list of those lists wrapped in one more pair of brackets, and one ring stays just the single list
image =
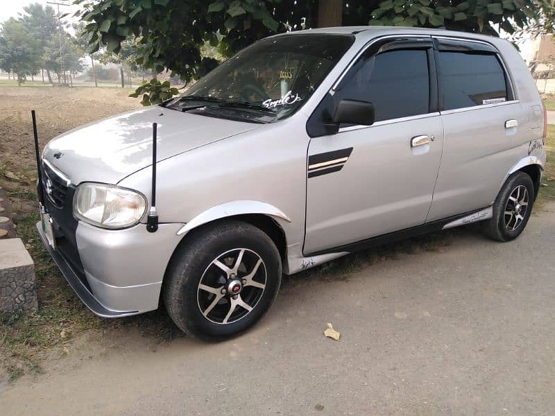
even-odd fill
[{"label": "thin dark lip along the bottom of the front bumper", "polygon": [[46,236],[44,236],[44,233],[42,232],[42,226],[40,222],[37,223],[37,232],[42,239],[42,243],[44,243],[44,247],[46,247],[46,250],[48,250],[54,263],[56,263],[56,266],[58,266],[58,268],[62,272],[62,275],[64,275],[67,283],[69,283],[69,286],[71,286],[79,299],[92,312],[103,318],[119,318],[122,316],[136,315],[137,313],[139,313],[139,311],[114,311],[103,306],[103,304],[101,304],[99,300],[94,297],[91,291],[89,291],[89,288],[87,288],[85,283],[83,283],[86,277],[75,270],[75,268],[71,266],[71,263],[69,263],[69,261],[62,257],[60,252],[53,250],[49,243],[46,242]]}]

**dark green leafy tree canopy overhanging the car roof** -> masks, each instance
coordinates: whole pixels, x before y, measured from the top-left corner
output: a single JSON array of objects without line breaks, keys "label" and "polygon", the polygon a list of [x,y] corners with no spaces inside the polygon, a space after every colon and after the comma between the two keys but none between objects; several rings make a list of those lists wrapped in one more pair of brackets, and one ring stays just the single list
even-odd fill
[{"label": "dark green leafy tree canopy overhanging the car roof", "polygon": [[[445,27],[498,35],[538,21],[552,0],[76,0],[93,50],[119,52],[128,37],[139,44],[137,64],[172,71],[189,81],[211,59],[210,42],[226,57],[262,37],[319,26]],[[336,4],[334,20],[325,13]],[[323,7],[325,6],[325,9]],[[338,9],[339,10],[339,9]]]}]

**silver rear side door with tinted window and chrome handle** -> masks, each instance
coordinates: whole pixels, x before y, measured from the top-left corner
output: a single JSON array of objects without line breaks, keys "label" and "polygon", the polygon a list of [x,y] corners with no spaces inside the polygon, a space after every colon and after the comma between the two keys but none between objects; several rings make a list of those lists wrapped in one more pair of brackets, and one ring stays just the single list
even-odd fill
[{"label": "silver rear side door with tinted window and chrome handle", "polygon": [[493,46],[438,38],[436,64],[445,139],[429,221],[491,205],[526,141],[525,112]]}]

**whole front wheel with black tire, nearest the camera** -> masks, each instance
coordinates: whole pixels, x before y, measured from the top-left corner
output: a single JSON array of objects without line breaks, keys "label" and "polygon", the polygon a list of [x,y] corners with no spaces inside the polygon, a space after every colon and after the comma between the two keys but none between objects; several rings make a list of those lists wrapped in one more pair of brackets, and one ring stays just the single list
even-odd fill
[{"label": "whole front wheel with black tire, nearest the camera", "polygon": [[[237,275],[229,273],[240,255]],[[223,270],[224,266],[229,270]],[[247,281],[251,273],[254,277]],[[278,295],[281,276],[280,253],[266,233],[242,221],[221,221],[185,236],[168,266],[164,303],[173,322],[188,335],[223,340],[262,318]],[[210,291],[200,288],[201,284]],[[231,292],[239,286],[234,298]],[[221,293],[222,288],[229,289],[228,293]],[[221,295],[212,293],[213,289]],[[244,304],[252,309],[248,311]],[[232,306],[234,311],[228,316]]]}]

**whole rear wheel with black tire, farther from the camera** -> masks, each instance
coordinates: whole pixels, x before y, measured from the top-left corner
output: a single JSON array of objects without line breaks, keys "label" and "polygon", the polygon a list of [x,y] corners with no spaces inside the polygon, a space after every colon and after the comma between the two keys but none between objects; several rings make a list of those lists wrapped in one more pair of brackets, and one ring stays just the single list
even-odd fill
[{"label": "whole rear wheel with black tire, farther from the camera", "polygon": [[[527,205],[525,207],[517,205],[512,199],[518,195],[516,193],[518,190],[524,193],[524,189],[526,189],[525,195],[527,198]],[[518,197],[522,201],[524,200],[523,198],[523,196]],[[511,241],[520,236],[530,218],[535,198],[533,182],[527,173],[519,171],[511,175],[504,183],[493,203],[493,217],[490,220],[484,221],[484,232],[486,235],[490,239],[497,241]],[[522,217],[520,220],[517,214],[515,214],[517,208],[520,209],[518,211],[518,215]],[[505,214],[509,211],[513,212],[512,216]]]}]

